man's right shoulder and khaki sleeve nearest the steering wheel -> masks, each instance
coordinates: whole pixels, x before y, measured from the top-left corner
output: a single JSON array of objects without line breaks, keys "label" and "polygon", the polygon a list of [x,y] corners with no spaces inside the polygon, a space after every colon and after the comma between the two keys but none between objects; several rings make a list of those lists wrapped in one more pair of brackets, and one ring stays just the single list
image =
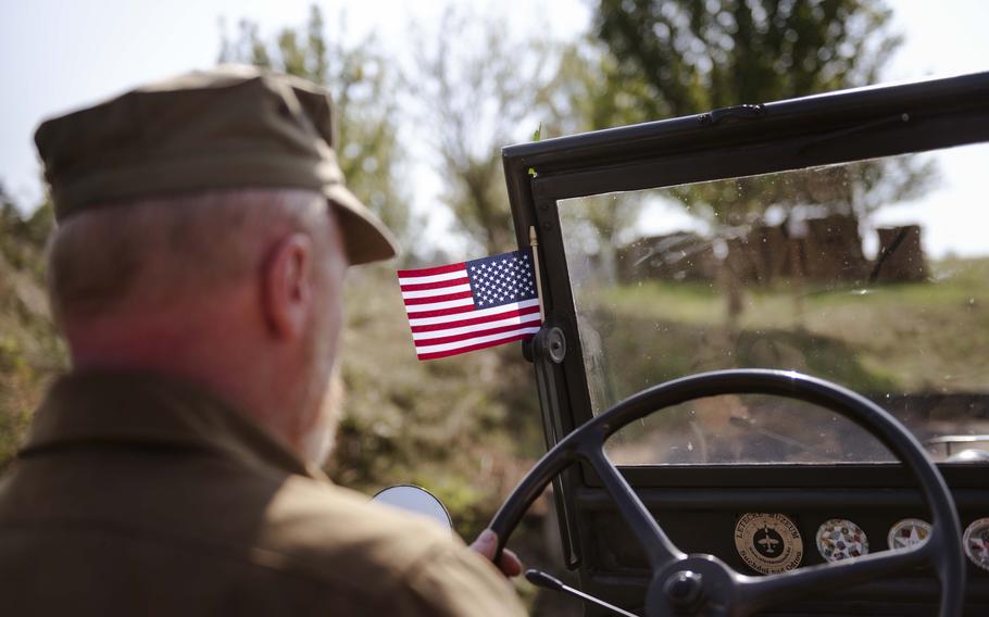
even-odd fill
[{"label": "man's right shoulder and khaki sleeve nearest the steering wheel", "polygon": [[392,594],[409,614],[511,615],[517,597],[494,567],[434,521],[304,477],[286,479],[265,513],[258,549],[298,576]]}]

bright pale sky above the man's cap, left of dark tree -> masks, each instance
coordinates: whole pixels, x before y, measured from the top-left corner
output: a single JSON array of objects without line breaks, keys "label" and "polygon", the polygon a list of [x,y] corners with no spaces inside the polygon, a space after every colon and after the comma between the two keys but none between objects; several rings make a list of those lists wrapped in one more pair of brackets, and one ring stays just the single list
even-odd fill
[{"label": "bright pale sky above the man's cap, left of dark tree", "polygon": [[[0,181],[23,205],[41,196],[34,130],[41,119],[87,105],[139,84],[216,64],[221,23],[236,35],[248,18],[262,37],[305,24],[312,0],[0,0]],[[573,36],[585,29],[581,0],[518,3],[478,0],[480,14],[503,15],[514,35]],[[330,21],[346,11],[353,40],[375,32],[401,53],[409,24],[438,22],[445,2],[359,0],[318,2]]]}]

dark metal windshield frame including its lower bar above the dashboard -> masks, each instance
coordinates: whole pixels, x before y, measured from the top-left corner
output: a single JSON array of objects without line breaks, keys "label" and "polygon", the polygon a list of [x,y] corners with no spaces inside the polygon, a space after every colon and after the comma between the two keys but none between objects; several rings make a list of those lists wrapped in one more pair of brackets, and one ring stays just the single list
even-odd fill
[{"label": "dark metal windshield frame including its lower bar above the dashboard", "polygon": [[[535,365],[547,449],[593,417],[560,232],[560,200],[985,141],[989,141],[989,72],[715,110],[503,149],[518,247],[529,247],[530,228],[538,229],[546,319],[542,330],[523,343],[523,353]],[[562,358],[561,343],[566,349]],[[976,492],[982,486],[982,466],[942,463],[939,467],[952,486]],[[821,494],[812,487],[910,486],[902,466],[889,463],[641,465],[624,466],[621,471],[643,499],[650,487],[664,487],[664,495],[669,496],[676,487],[756,482],[792,488],[789,503],[798,505]],[[597,507],[584,502],[599,499],[596,488],[601,484],[587,466],[577,466],[565,470],[553,486],[564,555],[573,568],[581,558],[575,513]],[[851,490],[842,499],[854,499]],[[956,494],[959,505],[965,501],[964,492]]]}]

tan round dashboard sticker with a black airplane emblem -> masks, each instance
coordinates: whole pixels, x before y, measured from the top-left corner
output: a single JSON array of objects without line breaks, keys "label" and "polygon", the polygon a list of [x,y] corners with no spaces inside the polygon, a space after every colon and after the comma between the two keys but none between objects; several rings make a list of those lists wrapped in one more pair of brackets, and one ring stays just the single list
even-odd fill
[{"label": "tan round dashboard sticker with a black airplane emblem", "polygon": [[781,514],[743,514],[735,526],[735,547],[750,568],[764,575],[792,570],[803,558],[800,531]]}]

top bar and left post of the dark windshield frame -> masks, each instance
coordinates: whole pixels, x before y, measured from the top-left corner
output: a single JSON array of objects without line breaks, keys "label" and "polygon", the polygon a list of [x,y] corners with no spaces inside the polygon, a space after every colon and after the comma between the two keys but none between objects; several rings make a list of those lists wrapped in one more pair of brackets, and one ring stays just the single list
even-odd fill
[{"label": "top bar and left post of the dark windshield frame", "polygon": [[[505,148],[518,244],[529,245],[529,227],[538,229],[546,324],[560,328],[568,350],[539,381],[548,446],[592,417],[560,200],[987,140],[989,72],[740,105]],[[531,350],[526,353],[531,357]]]}]

